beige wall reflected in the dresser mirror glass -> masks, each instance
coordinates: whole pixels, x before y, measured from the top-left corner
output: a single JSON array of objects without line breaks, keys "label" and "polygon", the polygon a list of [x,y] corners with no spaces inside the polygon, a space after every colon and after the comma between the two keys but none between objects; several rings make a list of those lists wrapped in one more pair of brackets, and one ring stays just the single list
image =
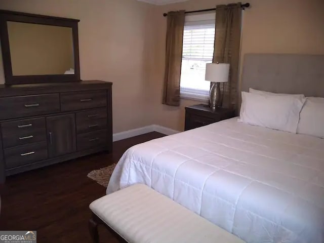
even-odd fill
[{"label": "beige wall reflected in the dresser mirror glass", "polygon": [[64,74],[74,68],[72,28],[8,21],[13,75]]}]

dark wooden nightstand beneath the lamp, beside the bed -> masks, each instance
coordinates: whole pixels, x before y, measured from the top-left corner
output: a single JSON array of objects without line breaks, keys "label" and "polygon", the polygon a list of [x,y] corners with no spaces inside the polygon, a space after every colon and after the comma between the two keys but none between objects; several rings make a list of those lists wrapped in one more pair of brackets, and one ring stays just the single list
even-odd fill
[{"label": "dark wooden nightstand beneath the lamp, beside the bed", "polygon": [[217,123],[217,121],[229,119],[235,116],[234,110],[221,107],[213,110],[208,105],[204,104],[187,106],[185,109],[185,131]]}]

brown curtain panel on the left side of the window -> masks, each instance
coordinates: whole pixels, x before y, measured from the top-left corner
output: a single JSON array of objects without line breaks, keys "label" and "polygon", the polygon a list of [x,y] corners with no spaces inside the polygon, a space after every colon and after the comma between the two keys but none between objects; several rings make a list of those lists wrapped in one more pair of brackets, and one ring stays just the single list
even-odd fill
[{"label": "brown curtain panel on the left side of the window", "polygon": [[163,104],[180,105],[180,74],[185,11],[169,12]]}]

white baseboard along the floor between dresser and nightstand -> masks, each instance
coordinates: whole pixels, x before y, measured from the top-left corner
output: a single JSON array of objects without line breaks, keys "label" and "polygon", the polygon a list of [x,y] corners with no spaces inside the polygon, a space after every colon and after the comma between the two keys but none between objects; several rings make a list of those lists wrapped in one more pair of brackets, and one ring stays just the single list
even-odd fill
[{"label": "white baseboard along the floor between dresser and nightstand", "polygon": [[131,130],[120,132],[120,133],[114,133],[112,135],[112,141],[115,142],[115,141],[135,137],[135,136],[142,135],[145,133],[150,133],[150,132],[158,132],[158,133],[163,133],[165,135],[172,135],[172,134],[180,133],[180,131],[176,131],[171,128],[166,128],[166,127],[159,126],[159,125],[150,125],[150,126],[146,126],[146,127],[142,127],[142,128],[131,129]]}]

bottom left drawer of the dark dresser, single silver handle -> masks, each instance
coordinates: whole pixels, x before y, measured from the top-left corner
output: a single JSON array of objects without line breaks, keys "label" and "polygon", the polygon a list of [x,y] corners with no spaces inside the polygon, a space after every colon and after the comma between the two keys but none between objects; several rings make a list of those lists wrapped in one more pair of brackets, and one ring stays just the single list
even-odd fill
[{"label": "bottom left drawer of the dark dresser, single silver handle", "polygon": [[47,142],[6,148],[4,152],[7,169],[28,165],[39,160],[47,159],[48,157]]}]

